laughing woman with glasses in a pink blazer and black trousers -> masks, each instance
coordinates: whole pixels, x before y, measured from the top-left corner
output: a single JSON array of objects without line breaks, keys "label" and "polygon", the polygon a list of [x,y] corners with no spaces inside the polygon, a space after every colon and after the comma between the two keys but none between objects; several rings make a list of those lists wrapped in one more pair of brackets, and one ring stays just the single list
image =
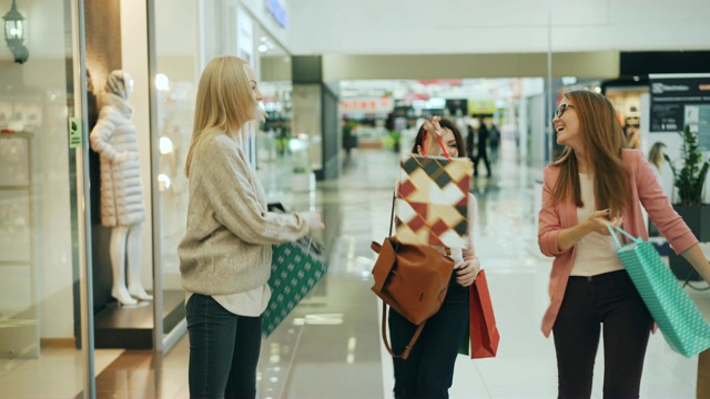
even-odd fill
[{"label": "laughing woman with glasses in a pink blazer and black trousers", "polygon": [[542,332],[554,332],[558,398],[589,398],[604,324],[605,398],[638,398],[653,320],[616,255],[607,229],[648,238],[641,205],[681,254],[710,280],[698,239],[673,211],[638,150],[623,150],[613,106],[571,91],[552,120],[562,155],[545,168],[538,244],[555,257]]}]

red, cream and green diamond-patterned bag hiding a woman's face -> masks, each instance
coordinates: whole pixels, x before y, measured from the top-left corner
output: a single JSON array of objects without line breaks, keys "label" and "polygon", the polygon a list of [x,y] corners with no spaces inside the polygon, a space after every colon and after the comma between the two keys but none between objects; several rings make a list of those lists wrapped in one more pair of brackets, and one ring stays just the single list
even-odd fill
[{"label": "red, cream and green diamond-patterned bag hiding a woman's face", "polygon": [[412,155],[402,162],[396,235],[404,244],[468,246],[468,158]]}]

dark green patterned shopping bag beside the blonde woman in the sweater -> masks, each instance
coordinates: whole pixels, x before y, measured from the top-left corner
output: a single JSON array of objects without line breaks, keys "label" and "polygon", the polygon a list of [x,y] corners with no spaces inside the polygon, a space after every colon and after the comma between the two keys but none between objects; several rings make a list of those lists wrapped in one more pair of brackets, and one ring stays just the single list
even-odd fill
[{"label": "dark green patterned shopping bag beside the blonde woman in the sweater", "polygon": [[262,332],[268,337],[305,298],[327,272],[327,264],[317,246],[302,239],[274,245],[268,286],[268,306],[262,315]]}]

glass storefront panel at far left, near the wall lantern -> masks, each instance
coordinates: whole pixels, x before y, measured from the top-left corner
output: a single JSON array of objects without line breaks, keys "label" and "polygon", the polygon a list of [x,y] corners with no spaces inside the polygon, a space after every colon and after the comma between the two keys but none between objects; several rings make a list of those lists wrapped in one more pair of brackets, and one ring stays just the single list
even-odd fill
[{"label": "glass storefront panel at far left, near the wall lantern", "polygon": [[[87,382],[80,348],[81,277],[72,8],[17,4],[21,45],[0,45],[0,397],[75,397]],[[8,33],[6,33],[8,34]],[[78,96],[77,99],[80,99]],[[79,127],[81,121],[72,127]],[[81,140],[79,141],[81,143]],[[79,176],[79,177],[78,177]],[[103,355],[103,354],[101,354]]]}]

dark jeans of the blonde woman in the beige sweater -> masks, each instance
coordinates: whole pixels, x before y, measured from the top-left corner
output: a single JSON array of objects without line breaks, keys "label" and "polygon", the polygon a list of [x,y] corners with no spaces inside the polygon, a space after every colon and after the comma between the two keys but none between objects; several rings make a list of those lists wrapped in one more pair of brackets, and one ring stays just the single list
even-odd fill
[{"label": "dark jeans of the blonde woman in the beige sweater", "polygon": [[234,315],[200,294],[185,308],[190,398],[255,398],[262,318]]}]

